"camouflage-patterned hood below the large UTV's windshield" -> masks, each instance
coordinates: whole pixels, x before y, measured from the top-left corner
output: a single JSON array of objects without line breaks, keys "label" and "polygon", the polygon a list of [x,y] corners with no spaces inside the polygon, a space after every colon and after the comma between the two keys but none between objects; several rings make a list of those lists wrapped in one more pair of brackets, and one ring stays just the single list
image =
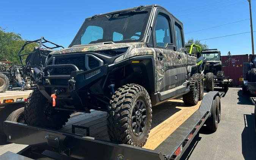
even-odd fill
[{"label": "camouflage-patterned hood below the large UTV's windshield", "polygon": [[93,52],[101,50],[112,50],[128,48],[132,43],[110,43],[110,44],[93,44],[93,45],[76,45],[71,48],[64,48],[62,50],[53,51],[50,55],[57,54],[69,54],[69,53],[79,53],[79,52]]}]

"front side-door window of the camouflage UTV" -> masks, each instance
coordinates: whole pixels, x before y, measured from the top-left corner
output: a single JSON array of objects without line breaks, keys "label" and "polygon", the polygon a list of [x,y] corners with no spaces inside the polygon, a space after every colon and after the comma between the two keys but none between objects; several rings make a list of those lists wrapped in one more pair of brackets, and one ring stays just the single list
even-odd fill
[{"label": "front side-door window of the camouflage UTV", "polygon": [[155,23],[155,39],[157,47],[165,47],[166,44],[171,43],[169,21],[160,14]]}]

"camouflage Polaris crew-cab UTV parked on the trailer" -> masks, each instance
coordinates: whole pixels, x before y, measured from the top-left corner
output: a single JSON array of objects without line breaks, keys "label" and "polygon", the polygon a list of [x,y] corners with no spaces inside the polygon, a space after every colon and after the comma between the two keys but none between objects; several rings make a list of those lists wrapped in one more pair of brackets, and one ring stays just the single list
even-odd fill
[{"label": "camouflage Polaris crew-cab UTV parked on the trailer", "polygon": [[36,72],[25,120],[60,129],[72,112],[108,112],[111,141],[143,146],[152,106],[183,95],[198,103],[202,75],[185,50],[183,25],[158,5],[85,19],[69,48],[53,51]]}]

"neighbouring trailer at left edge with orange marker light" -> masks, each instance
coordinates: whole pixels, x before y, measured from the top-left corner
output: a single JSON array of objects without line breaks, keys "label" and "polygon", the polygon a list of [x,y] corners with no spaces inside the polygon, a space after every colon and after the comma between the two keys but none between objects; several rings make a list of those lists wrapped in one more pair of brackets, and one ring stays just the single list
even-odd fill
[{"label": "neighbouring trailer at left edge with orange marker light", "polygon": [[5,135],[3,132],[3,121],[12,120],[23,122],[23,115],[25,103],[31,90],[27,91],[6,91],[0,94],[0,135]]}]

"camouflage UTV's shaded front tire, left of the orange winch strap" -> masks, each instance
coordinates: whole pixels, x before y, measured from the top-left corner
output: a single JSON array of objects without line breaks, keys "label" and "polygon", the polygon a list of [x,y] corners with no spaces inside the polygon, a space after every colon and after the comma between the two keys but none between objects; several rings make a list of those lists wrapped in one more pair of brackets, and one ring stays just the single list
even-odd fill
[{"label": "camouflage UTV's shaded front tire, left of the orange winch strap", "polygon": [[48,99],[42,95],[38,88],[34,89],[25,106],[25,121],[27,124],[50,129],[60,129],[68,122],[70,112],[63,110],[53,110],[52,114],[47,112]]}]

